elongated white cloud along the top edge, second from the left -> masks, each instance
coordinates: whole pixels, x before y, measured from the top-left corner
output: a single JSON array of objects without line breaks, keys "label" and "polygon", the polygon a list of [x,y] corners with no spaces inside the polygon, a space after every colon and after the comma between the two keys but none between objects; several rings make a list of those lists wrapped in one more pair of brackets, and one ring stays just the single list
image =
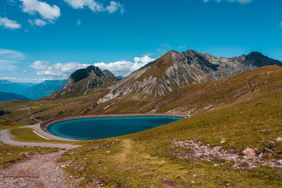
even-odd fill
[{"label": "elongated white cloud along the top edge, second from the left", "polygon": [[102,11],[108,11],[109,13],[114,13],[118,11],[118,9],[123,13],[123,5],[121,3],[116,1],[111,1],[109,6],[104,7],[104,5],[98,1],[95,0],[63,0],[65,1],[69,6],[72,8],[78,9],[78,8],[90,8],[93,12],[102,12]]}]

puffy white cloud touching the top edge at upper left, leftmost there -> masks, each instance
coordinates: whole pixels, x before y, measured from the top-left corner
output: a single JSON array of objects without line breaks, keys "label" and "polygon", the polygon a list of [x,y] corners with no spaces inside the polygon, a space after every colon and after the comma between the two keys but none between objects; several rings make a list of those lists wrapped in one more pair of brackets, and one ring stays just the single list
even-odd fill
[{"label": "puffy white cloud touching the top edge at upper left, leftmost there", "polygon": [[50,21],[54,21],[61,15],[61,9],[59,6],[51,6],[45,2],[38,0],[20,0],[23,1],[23,12],[35,15],[39,13],[42,18]]}]

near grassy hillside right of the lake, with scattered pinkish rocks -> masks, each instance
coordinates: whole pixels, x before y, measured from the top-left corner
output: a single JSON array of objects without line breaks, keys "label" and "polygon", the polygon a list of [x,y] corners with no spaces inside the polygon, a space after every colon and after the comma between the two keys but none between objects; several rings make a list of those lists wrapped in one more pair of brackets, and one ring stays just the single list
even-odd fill
[{"label": "near grassy hillside right of the lake, with scattered pinkish rocks", "polygon": [[[247,99],[89,142],[64,153],[59,166],[81,187],[281,187],[281,69]],[[274,66],[258,71],[269,70]],[[259,89],[267,85],[272,91]]]}]

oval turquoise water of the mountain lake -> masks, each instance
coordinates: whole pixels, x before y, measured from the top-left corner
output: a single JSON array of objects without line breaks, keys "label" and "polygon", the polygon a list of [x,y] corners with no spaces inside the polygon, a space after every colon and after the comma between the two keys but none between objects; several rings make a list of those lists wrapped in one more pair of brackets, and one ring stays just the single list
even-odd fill
[{"label": "oval turquoise water of the mountain lake", "polygon": [[63,121],[49,126],[47,130],[59,137],[71,139],[102,139],[148,130],[181,119],[161,116],[91,118]]}]

